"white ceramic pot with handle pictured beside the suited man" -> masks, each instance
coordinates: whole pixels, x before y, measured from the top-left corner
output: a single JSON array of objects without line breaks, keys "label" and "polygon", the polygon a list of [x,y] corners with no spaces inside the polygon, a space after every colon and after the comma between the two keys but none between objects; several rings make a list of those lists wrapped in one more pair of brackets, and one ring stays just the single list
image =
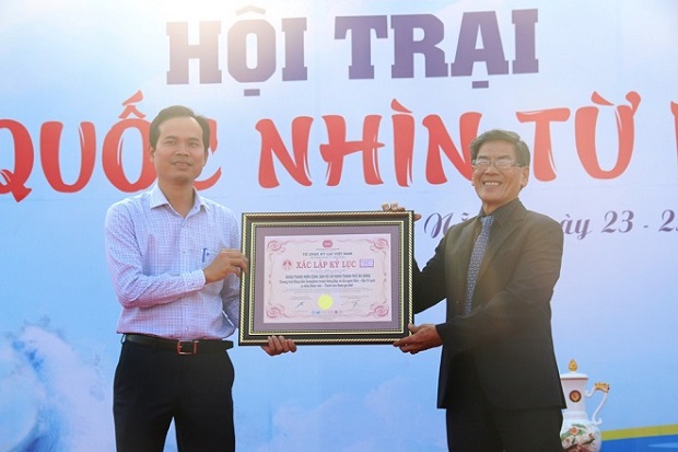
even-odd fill
[{"label": "white ceramic pot with handle pictured beside the suited man", "polygon": [[[607,401],[610,385],[608,383],[595,383],[593,390],[586,392],[588,376],[576,371],[576,361],[571,360],[568,369],[570,369],[570,373],[560,375],[568,403],[568,408],[563,412],[563,426],[560,430],[563,450],[568,452],[598,452],[603,442],[598,428],[603,420],[598,417],[598,413]],[[585,402],[596,391],[603,392],[603,399],[588,419]]]}]

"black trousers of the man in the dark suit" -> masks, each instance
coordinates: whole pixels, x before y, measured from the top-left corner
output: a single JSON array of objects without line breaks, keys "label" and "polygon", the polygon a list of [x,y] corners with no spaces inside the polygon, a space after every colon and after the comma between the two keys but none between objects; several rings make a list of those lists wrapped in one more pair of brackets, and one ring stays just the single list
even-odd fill
[{"label": "black trousers of the man in the dark suit", "polygon": [[560,407],[499,409],[486,397],[472,363],[457,384],[461,391],[446,413],[451,452],[562,452]]}]

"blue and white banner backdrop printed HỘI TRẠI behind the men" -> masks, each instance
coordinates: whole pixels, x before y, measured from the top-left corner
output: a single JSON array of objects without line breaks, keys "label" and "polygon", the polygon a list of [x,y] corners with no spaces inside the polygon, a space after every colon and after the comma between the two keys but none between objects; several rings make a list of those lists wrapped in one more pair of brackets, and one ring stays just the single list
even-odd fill
[{"label": "blue and white banner backdrop printed H\u1ed8I TR\u1ea0I behind the men", "polygon": [[[521,134],[521,198],[565,232],[561,372],[610,384],[606,451],[678,449],[676,18],[671,0],[2,2],[0,451],[114,450],[104,215],[153,185],[148,126],[172,104],[212,120],[203,195],[238,215],[398,201],[422,215],[421,264],[480,208],[470,140]],[[440,350],[232,358],[241,451],[446,448]]]}]

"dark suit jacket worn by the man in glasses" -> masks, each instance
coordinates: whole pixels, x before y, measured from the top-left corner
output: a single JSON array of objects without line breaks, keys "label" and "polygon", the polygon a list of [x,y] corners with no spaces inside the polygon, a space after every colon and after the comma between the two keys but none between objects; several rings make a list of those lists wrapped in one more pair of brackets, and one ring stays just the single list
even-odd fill
[{"label": "dark suit jacket worn by the man in glasses", "polygon": [[518,199],[492,215],[469,315],[463,311],[478,217],[452,227],[423,270],[414,269],[414,312],[447,299],[447,320],[436,325],[443,339],[439,407],[464,396],[459,383],[474,366],[478,384],[499,408],[564,408],[550,305],[560,276],[562,228]]}]

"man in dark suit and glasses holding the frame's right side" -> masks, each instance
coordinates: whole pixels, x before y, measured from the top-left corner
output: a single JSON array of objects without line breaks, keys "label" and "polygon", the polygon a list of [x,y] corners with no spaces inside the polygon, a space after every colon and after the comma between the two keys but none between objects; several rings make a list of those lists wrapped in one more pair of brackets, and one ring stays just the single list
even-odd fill
[{"label": "man in dark suit and glasses holding the frame's right side", "polygon": [[412,335],[395,346],[410,354],[443,346],[437,404],[446,408],[451,451],[561,452],[565,404],[550,301],[562,228],[518,199],[530,159],[517,134],[490,130],[470,148],[482,209],[453,225],[412,276],[414,312],[447,299],[447,318],[410,325]]}]

